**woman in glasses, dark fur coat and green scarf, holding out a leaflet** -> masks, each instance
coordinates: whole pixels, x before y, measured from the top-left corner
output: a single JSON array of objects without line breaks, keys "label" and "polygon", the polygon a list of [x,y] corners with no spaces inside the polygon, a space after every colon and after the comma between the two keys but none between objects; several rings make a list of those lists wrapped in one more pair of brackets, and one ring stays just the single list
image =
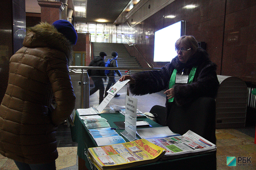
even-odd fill
[{"label": "woman in glasses, dark fur coat and green scarf, holding out a leaflet", "polygon": [[[189,106],[199,97],[215,98],[219,87],[216,64],[206,51],[198,46],[193,36],[182,36],[175,43],[177,56],[159,71],[145,71],[130,79],[130,92],[134,95],[152,94],[166,90],[166,120],[172,107]],[[183,134],[181,134],[183,135]]]}]

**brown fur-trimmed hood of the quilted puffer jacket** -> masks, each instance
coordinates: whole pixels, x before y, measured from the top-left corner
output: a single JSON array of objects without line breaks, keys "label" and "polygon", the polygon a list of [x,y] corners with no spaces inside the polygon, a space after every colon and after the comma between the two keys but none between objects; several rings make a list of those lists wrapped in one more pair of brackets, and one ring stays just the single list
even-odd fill
[{"label": "brown fur-trimmed hood of the quilted puffer jacket", "polygon": [[23,45],[25,47],[45,46],[54,48],[66,54],[69,65],[73,61],[71,43],[53,25],[48,23],[41,22],[34,27],[28,28]]}]

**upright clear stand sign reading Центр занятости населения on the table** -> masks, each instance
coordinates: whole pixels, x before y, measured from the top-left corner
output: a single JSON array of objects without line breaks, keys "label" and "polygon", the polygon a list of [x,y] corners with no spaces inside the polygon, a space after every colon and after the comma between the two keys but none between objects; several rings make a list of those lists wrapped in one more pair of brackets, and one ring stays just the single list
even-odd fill
[{"label": "upright clear stand sign reading \u0426\u0435\u043d\u0442\u0440 \u0437\u0430\u043d\u044f\u0442\u043e\u0441\u0442\u0438 \u043d\u0430\u0441\u0435\u043b\u0435\u043d\u0438\u044f on the table", "polygon": [[[136,140],[137,99],[125,97],[125,130],[121,134],[129,141]],[[137,138],[138,139],[138,138]]]}]

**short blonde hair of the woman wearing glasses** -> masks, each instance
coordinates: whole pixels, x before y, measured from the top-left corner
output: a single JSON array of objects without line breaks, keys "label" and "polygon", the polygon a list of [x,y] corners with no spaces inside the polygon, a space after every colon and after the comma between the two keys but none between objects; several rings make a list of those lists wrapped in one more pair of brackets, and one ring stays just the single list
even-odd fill
[{"label": "short blonde hair of the woman wearing glasses", "polygon": [[180,44],[185,45],[191,50],[196,51],[199,47],[198,42],[196,41],[195,37],[192,35],[184,35],[181,36],[175,43],[175,47],[177,48]]}]

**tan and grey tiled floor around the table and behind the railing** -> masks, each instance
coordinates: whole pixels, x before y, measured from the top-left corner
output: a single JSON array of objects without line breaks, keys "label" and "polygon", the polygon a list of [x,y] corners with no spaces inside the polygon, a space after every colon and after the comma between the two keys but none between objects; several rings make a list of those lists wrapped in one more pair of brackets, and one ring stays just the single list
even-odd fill
[{"label": "tan and grey tiled floor around the table and behind the railing", "polygon": [[[125,89],[121,89],[119,94],[121,96],[113,98],[107,107],[111,104],[124,105]],[[90,107],[97,107],[99,102],[98,96],[99,91],[90,96]],[[165,96],[162,93],[133,97],[138,99],[137,108],[142,112],[148,112],[156,104],[164,106],[165,103]],[[255,132],[255,126],[249,128],[216,129],[217,170],[256,169],[256,144],[254,144],[253,132]],[[77,143],[72,142],[70,128],[66,124],[59,126],[57,141],[59,142],[57,148],[59,157],[56,160],[57,170],[78,170]],[[227,166],[227,156],[252,157],[253,166]],[[13,160],[0,155],[0,170],[2,169],[18,170]]]}]

